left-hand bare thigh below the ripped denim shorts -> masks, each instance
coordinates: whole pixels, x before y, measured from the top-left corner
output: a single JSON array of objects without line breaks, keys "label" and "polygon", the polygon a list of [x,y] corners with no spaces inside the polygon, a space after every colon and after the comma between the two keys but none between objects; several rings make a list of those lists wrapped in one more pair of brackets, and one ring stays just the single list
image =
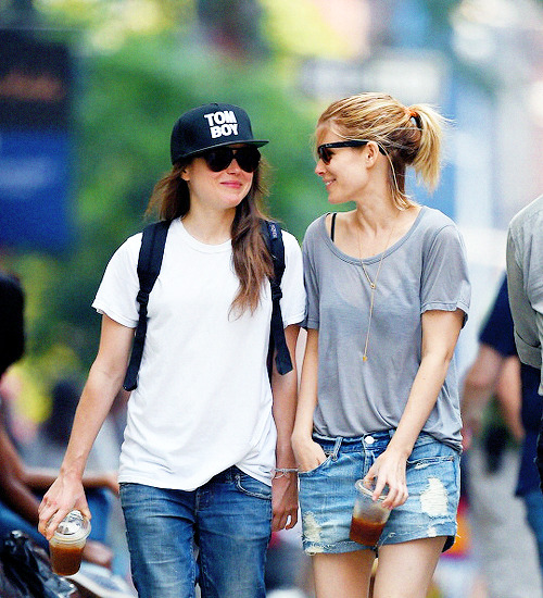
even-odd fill
[{"label": "left-hand bare thigh below the ripped denim shorts", "polygon": [[372,550],[315,555],[312,561],[316,598],[367,598],[374,560]]}]

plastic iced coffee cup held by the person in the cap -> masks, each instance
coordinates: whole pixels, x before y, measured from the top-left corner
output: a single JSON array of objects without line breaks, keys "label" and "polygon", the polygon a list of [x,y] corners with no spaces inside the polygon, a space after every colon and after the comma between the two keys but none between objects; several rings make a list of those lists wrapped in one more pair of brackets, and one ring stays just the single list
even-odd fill
[{"label": "plastic iced coffee cup held by the person in the cap", "polygon": [[58,575],[74,575],[79,571],[81,555],[90,534],[90,521],[79,511],[71,511],[49,540],[51,566]]}]

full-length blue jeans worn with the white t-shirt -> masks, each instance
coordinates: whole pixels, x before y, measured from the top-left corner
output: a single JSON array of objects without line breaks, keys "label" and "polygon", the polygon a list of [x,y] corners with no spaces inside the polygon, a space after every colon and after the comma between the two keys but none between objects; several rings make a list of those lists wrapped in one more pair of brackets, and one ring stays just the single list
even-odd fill
[{"label": "full-length blue jeans worn with the white t-shirt", "polygon": [[264,598],[272,488],[230,468],[192,491],[121,485],[140,598]]}]

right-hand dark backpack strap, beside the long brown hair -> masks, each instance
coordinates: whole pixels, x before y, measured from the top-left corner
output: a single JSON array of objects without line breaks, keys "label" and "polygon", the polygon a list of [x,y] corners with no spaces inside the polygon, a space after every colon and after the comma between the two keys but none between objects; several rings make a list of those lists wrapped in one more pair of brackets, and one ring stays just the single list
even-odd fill
[{"label": "right-hand dark backpack strap, beside the long brown hair", "polygon": [[272,286],[272,325],[269,338],[269,351],[273,356],[277,350],[276,365],[279,374],[287,374],[292,371],[285,328],[282,326],[281,306],[279,303],[281,291],[281,278],[285,272],[285,245],[282,242],[281,227],[277,222],[262,221],[262,234],[274,262],[274,276],[269,279]]}]

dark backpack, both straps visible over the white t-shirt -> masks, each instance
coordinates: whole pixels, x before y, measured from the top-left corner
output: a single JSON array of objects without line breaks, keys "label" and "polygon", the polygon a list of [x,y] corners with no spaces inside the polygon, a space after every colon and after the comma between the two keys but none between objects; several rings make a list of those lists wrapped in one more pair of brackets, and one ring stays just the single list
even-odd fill
[{"label": "dark backpack, both straps visible over the white t-shirt", "polygon": [[[164,246],[171,221],[161,221],[143,228],[141,247],[138,257],[139,292],[136,300],[139,303],[139,320],[134,336],[134,345],[130,361],[126,371],[123,387],[125,390],[134,390],[138,386],[138,371],[143,354],[143,345],[147,334],[147,304],[149,295],[154,286],[162,265]],[[285,245],[282,242],[281,227],[276,222],[262,221],[262,235],[274,263],[274,276],[269,278],[272,286],[272,323],[269,332],[268,372],[272,371],[274,350],[277,349],[276,365],[279,374],[292,371],[285,329],[282,326],[281,307],[279,300],[282,297],[281,277],[285,272]]]}]

